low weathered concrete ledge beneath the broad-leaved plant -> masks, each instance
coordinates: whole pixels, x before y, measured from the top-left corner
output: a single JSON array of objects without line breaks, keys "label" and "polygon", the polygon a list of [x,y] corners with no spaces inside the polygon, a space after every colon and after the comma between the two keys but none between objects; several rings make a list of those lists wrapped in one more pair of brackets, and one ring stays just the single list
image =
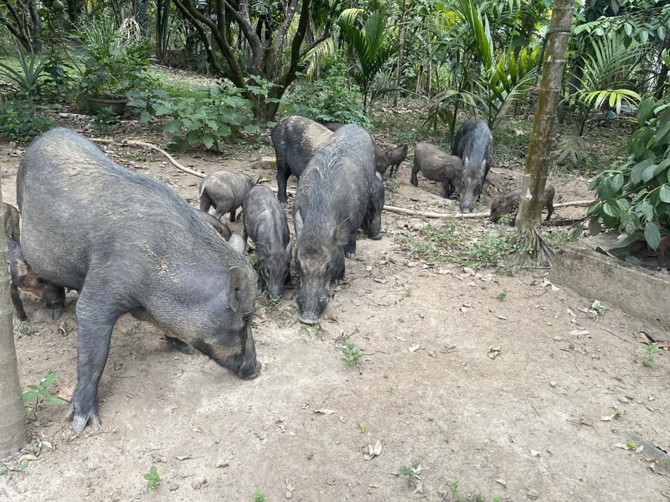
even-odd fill
[{"label": "low weathered concrete ledge beneath the broad-leaved plant", "polygon": [[648,271],[593,249],[609,249],[615,239],[616,236],[600,234],[560,248],[549,273],[551,282],[568,287],[589,301],[616,305],[627,314],[669,330],[670,274]]}]

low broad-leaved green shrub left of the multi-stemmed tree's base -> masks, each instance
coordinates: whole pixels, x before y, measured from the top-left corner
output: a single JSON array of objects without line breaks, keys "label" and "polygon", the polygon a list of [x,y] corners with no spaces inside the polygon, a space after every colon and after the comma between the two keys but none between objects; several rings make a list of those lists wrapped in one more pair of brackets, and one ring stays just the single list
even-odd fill
[{"label": "low broad-leaved green shrub left of the multi-stemmed tree's base", "polygon": [[210,87],[197,98],[158,98],[156,93],[134,93],[131,109],[140,112],[142,121],[151,114],[163,117],[165,132],[174,134],[168,145],[174,151],[185,151],[189,145],[221,151],[223,138],[260,130],[251,123],[251,101],[228,83]]}]

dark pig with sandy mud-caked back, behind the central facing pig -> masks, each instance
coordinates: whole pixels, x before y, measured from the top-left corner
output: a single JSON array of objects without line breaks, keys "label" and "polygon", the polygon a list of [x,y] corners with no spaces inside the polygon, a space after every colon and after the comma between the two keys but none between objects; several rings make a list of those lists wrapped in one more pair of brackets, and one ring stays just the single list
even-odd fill
[{"label": "dark pig with sandy mud-caked back, behind the central facing pig", "polygon": [[320,123],[301,116],[288,116],[270,134],[277,161],[277,199],[288,205],[286,182],[291,174],[300,178],[312,155],[324,146],[333,132]]}]

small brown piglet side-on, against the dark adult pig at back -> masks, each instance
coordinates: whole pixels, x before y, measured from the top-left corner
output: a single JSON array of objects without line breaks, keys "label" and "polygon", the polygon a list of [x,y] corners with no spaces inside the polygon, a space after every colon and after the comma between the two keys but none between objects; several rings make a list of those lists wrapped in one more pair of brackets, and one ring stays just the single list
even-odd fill
[{"label": "small brown piglet side-on, against the dark adult pig at back", "polygon": [[463,162],[456,155],[449,155],[431,143],[417,143],[414,149],[414,165],[410,183],[419,186],[418,173],[429,180],[439,181],[445,190],[445,199],[454,193],[463,177]]}]

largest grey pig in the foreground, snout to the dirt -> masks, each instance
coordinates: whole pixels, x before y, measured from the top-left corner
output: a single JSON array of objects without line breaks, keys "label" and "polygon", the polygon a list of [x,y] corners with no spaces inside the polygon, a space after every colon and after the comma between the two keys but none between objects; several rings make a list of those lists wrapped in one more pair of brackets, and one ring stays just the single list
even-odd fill
[{"label": "largest grey pig in the foreground, snout to the dirt", "polygon": [[45,280],[80,292],[78,381],[68,407],[75,432],[100,427],[98,383],[126,312],[242,379],[259,374],[255,272],[168,185],[59,128],[24,153],[17,199],[27,261]]}]

